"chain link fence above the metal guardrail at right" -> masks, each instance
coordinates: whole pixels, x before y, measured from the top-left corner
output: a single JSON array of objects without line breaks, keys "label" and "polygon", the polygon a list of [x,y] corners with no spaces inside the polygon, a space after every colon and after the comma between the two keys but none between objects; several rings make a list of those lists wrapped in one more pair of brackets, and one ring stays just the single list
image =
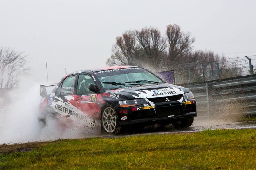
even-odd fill
[{"label": "chain link fence above the metal guardrail at right", "polygon": [[174,66],[176,84],[205,82],[256,74],[256,55],[220,61],[182,63]]}]

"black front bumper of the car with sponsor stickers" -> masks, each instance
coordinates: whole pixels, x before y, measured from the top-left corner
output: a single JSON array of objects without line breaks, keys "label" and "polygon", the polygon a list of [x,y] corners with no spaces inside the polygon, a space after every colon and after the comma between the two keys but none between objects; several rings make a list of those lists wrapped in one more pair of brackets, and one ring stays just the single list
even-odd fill
[{"label": "black front bumper of the car with sponsor stickers", "polygon": [[138,123],[171,122],[175,119],[197,116],[195,99],[186,100],[186,104],[185,102],[181,104],[178,101],[154,104],[154,108],[148,109],[146,107],[145,110],[143,106],[117,109],[120,126]]}]

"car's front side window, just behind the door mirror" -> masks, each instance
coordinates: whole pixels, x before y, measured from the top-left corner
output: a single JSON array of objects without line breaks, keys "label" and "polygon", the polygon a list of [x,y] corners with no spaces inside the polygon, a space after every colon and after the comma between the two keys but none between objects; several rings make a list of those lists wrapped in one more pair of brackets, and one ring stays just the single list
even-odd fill
[{"label": "car's front side window, just behind the door mirror", "polygon": [[92,77],[89,75],[79,75],[77,82],[77,94],[92,94],[90,84],[95,84]]}]

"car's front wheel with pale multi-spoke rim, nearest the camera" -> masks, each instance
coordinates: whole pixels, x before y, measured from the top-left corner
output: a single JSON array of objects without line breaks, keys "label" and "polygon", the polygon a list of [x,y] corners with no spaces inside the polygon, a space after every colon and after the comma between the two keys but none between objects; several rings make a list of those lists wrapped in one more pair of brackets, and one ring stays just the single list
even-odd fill
[{"label": "car's front wheel with pale multi-spoke rim, nearest the camera", "polygon": [[121,131],[118,114],[111,105],[107,105],[102,109],[101,128],[110,134],[118,134]]}]

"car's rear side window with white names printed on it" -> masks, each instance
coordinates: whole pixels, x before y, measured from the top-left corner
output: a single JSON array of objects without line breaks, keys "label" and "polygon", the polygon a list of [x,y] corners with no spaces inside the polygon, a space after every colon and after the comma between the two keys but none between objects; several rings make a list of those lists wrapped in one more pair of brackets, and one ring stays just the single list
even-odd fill
[{"label": "car's rear side window with white names printed on it", "polygon": [[74,93],[74,82],[76,75],[67,77],[62,82],[61,95],[71,95]]}]

